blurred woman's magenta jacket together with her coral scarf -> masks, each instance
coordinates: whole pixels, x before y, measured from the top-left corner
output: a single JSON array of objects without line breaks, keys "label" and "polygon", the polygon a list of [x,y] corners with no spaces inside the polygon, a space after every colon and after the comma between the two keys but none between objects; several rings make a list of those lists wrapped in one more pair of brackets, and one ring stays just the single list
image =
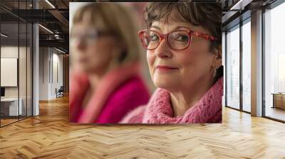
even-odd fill
[{"label": "blurred woman's magenta jacket together with her coral scarf", "polygon": [[138,64],[128,64],[108,72],[85,109],[81,104],[89,79],[82,73],[71,75],[69,119],[79,124],[115,124],[136,107],[147,104],[150,94],[138,75]]}]

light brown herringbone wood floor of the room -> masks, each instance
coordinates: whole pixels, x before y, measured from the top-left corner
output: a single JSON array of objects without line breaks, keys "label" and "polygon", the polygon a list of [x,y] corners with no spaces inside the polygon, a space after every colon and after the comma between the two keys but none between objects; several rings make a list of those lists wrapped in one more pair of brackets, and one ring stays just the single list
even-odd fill
[{"label": "light brown herringbone wood floor of the room", "polygon": [[285,158],[285,124],[224,108],[223,124],[68,124],[68,98],[0,128],[0,158]]}]

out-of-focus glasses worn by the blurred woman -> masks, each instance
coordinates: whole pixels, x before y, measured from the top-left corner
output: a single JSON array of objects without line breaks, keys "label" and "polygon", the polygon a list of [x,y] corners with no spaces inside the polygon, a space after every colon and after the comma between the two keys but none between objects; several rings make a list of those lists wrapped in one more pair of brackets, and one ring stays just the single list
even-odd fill
[{"label": "out-of-focus glasses worn by the blurred woman", "polygon": [[78,43],[80,40],[83,40],[87,45],[93,45],[98,38],[106,35],[113,35],[110,31],[86,31],[86,33],[71,33],[71,45]]}]

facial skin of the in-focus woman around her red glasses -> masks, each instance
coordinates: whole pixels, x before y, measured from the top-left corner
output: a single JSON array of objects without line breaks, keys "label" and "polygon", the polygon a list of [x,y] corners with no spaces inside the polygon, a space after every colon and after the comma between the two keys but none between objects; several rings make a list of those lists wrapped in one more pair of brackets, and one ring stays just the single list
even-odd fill
[{"label": "facial skin of the in-focus woman around her red glasses", "polygon": [[[150,29],[163,34],[190,30],[210,35],[201,26],[171,19],[167,23],[163,19],[154,21]],[[192,36],[190,46],[185,50],[172,50],[165,40],[162,40],[155,50],[147,50],[147,62],[155,86],[169,91],[180,91],[195,87],[201,82],[212,84],[213,66],[217,65],[217,58],[210,52],[209,47],[209,40]]]}]

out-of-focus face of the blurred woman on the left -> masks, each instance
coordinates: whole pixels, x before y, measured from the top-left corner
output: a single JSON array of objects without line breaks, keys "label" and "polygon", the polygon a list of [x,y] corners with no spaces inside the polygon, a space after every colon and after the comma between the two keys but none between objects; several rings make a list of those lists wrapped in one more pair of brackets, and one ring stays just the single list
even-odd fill
[{"label": "out-of-focus face of the blurred woman on the left", "polygon": [[83,17],[83,21],[76,23],[72,29],[73,62],[83,72],[102,75],[120,49],[112,35],[96,35],[98,31],[105,31],[100,19],[96,20],[97,28],[86,19],[88,18]]}]

